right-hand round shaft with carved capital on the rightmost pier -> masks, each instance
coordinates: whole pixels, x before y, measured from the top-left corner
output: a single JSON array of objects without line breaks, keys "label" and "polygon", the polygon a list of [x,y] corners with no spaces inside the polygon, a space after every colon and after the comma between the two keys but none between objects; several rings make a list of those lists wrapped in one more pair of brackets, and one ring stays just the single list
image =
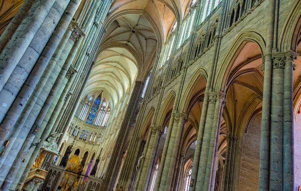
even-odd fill
[{"label": "right-hand round shaft with carved capital on the rightmost pier", "polygon": [[294,186],[293,158],[293,60],[295,54],[285,55],[284,65],[284,94],[283,94],[283,189],[292,190]]}]

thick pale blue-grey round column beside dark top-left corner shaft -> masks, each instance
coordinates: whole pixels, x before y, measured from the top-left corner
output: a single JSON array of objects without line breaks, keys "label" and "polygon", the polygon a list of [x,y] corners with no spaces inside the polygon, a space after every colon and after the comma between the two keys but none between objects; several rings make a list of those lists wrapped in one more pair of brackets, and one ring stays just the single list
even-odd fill
[{"label": "thick pale blue-grey round column beside dark top-left corner shaft", "polygon": [[[0,54],[0,91],[44,23],[56,0],[36,1]],[[37,47],[36,47],[37,48]],[[2,118],[1,118],[2,119]],[[1,120],[0,120],[1,121]]]}]

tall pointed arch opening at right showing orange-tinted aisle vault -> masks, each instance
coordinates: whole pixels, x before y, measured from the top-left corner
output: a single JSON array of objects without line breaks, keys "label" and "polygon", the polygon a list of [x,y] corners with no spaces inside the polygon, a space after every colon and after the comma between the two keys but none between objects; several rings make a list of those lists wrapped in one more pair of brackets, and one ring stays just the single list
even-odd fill
[{"label": "tall pointed arch opening at right showing orange-tinted aisle vault", "polygon": [[[227,103],[223,109],[224,133],[227,135],[223,136],[223,140],[226,139],[223,190],[259,188],[260,112],[263,94],[261,65],[259,46],[254,42],[244,41],[227,69]],[[221,189],[220,179],[216,187]]]}]

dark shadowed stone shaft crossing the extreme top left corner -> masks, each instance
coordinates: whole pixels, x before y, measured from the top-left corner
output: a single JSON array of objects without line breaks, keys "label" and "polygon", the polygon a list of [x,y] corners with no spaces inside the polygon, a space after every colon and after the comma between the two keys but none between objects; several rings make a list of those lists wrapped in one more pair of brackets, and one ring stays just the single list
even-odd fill
[{"label": "dark shadowed stone shaft crossing the extreme top left corner", "polygon": [[2,52],[6,44],[10,41],[11,37],[16,32],[20,23],[22,22],[26,14],[29,12],[35,1],[36,0],[26,0],[22,4],[21,8],[19,9],[15,17],[12,19],[10,24],[7,26],[5,31],[2,33],[2,35],[0,36],[0,53]]}]

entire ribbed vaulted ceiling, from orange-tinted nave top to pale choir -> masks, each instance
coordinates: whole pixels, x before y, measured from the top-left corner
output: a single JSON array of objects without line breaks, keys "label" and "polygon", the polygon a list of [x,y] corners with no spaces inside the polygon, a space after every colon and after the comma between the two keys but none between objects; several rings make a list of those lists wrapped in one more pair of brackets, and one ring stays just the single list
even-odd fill
[{"label": "entire ribbed vaulted ceiling, from orange-tinted nave top to pale choir", "polygon": [[177,20],[181,24],[191,0],[114,1],[104,22],[106,33],[85,95],[103,91],[113,104],[144,81]]}]

